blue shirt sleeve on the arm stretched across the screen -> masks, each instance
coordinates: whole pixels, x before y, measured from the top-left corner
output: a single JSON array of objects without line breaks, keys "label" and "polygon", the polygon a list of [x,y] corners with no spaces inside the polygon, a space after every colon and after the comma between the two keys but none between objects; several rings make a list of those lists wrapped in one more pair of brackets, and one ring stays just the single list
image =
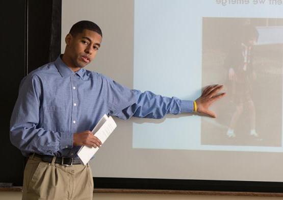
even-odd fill
[{"label": "blue shirt sleeve on the arm stretched across the screen", "polygon": [[150,91],[130,90],[113,80],[108,81],[109,114],[121,119],[132,116],[159,119],[166,114],[193,112],[193,101],[157,95]]}]

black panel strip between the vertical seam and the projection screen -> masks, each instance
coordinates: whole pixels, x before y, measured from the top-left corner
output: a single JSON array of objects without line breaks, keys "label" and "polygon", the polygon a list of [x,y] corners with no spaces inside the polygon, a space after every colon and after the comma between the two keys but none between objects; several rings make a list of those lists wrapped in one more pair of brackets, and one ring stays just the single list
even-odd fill
[{"label": "black panel strip between the vertical seam and the projection screen", "polygon": [[28,72],[61,52],[61,1],[28,1]]}]

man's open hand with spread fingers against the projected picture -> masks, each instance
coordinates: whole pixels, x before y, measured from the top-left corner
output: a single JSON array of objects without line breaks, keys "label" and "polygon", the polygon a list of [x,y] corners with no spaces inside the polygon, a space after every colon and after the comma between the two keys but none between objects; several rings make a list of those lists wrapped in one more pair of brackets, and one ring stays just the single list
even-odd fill
[{"label": "man's open hand with spread fingers against the projected picture", "polygon": [[201,96],[196,99],[197,112],[215,118],[215,113],[210,111],[209,107],[213,102],[225,95],[225,92],[218,93],[222,88],[223,85],[210,85],[205,88]]}]

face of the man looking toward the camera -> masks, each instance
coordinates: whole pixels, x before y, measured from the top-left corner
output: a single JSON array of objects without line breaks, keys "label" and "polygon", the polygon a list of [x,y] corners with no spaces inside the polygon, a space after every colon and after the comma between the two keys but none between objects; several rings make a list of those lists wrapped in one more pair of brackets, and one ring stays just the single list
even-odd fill
[{"label": "face of the man looking toward the camera", "polygon": [[86,29],[74,37],[68,34],[63,56],[67,65],[74,70],[79,70],[89,64],[95,58],[101,40],[102,37],[98,33]]}]

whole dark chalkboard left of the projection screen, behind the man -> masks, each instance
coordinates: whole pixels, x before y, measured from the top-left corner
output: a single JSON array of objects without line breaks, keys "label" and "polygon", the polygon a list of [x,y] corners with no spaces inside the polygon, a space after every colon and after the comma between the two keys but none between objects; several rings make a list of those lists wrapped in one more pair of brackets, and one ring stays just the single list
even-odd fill
[{"label": "whole dark chalkboard left of the projection screen, behind the man", "polygon": [[60,54],[61,1],[1,1],[1,8],[0,183],[21,186],[25,158],[10,142],[10,117],[21,79]]}]

